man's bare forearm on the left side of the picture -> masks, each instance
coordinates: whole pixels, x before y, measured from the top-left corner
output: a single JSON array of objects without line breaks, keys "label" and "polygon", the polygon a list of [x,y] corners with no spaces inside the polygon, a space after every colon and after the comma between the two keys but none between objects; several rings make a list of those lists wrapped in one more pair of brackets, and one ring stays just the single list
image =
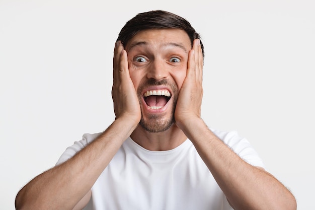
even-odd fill
[{"label": "man's bare forearm on the left side of the picture", "polygon": [[99,175],[134,129],[116,120],[91,144],[30,181],[16,198],[16,209],[72,209],[89,192]]}]

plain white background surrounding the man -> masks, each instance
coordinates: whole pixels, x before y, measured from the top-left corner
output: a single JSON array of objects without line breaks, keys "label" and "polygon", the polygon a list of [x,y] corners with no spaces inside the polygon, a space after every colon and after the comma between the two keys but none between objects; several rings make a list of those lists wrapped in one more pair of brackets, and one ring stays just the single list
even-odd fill
[{"label": "plain white background surrounding the man", "polygon": [[114,42],[156,9],[202,36],[207,124],[249,139],[298,209],[315,209],[312,0],[0,0],[0,208],[14,209],[22,186],[113,121]]}]

